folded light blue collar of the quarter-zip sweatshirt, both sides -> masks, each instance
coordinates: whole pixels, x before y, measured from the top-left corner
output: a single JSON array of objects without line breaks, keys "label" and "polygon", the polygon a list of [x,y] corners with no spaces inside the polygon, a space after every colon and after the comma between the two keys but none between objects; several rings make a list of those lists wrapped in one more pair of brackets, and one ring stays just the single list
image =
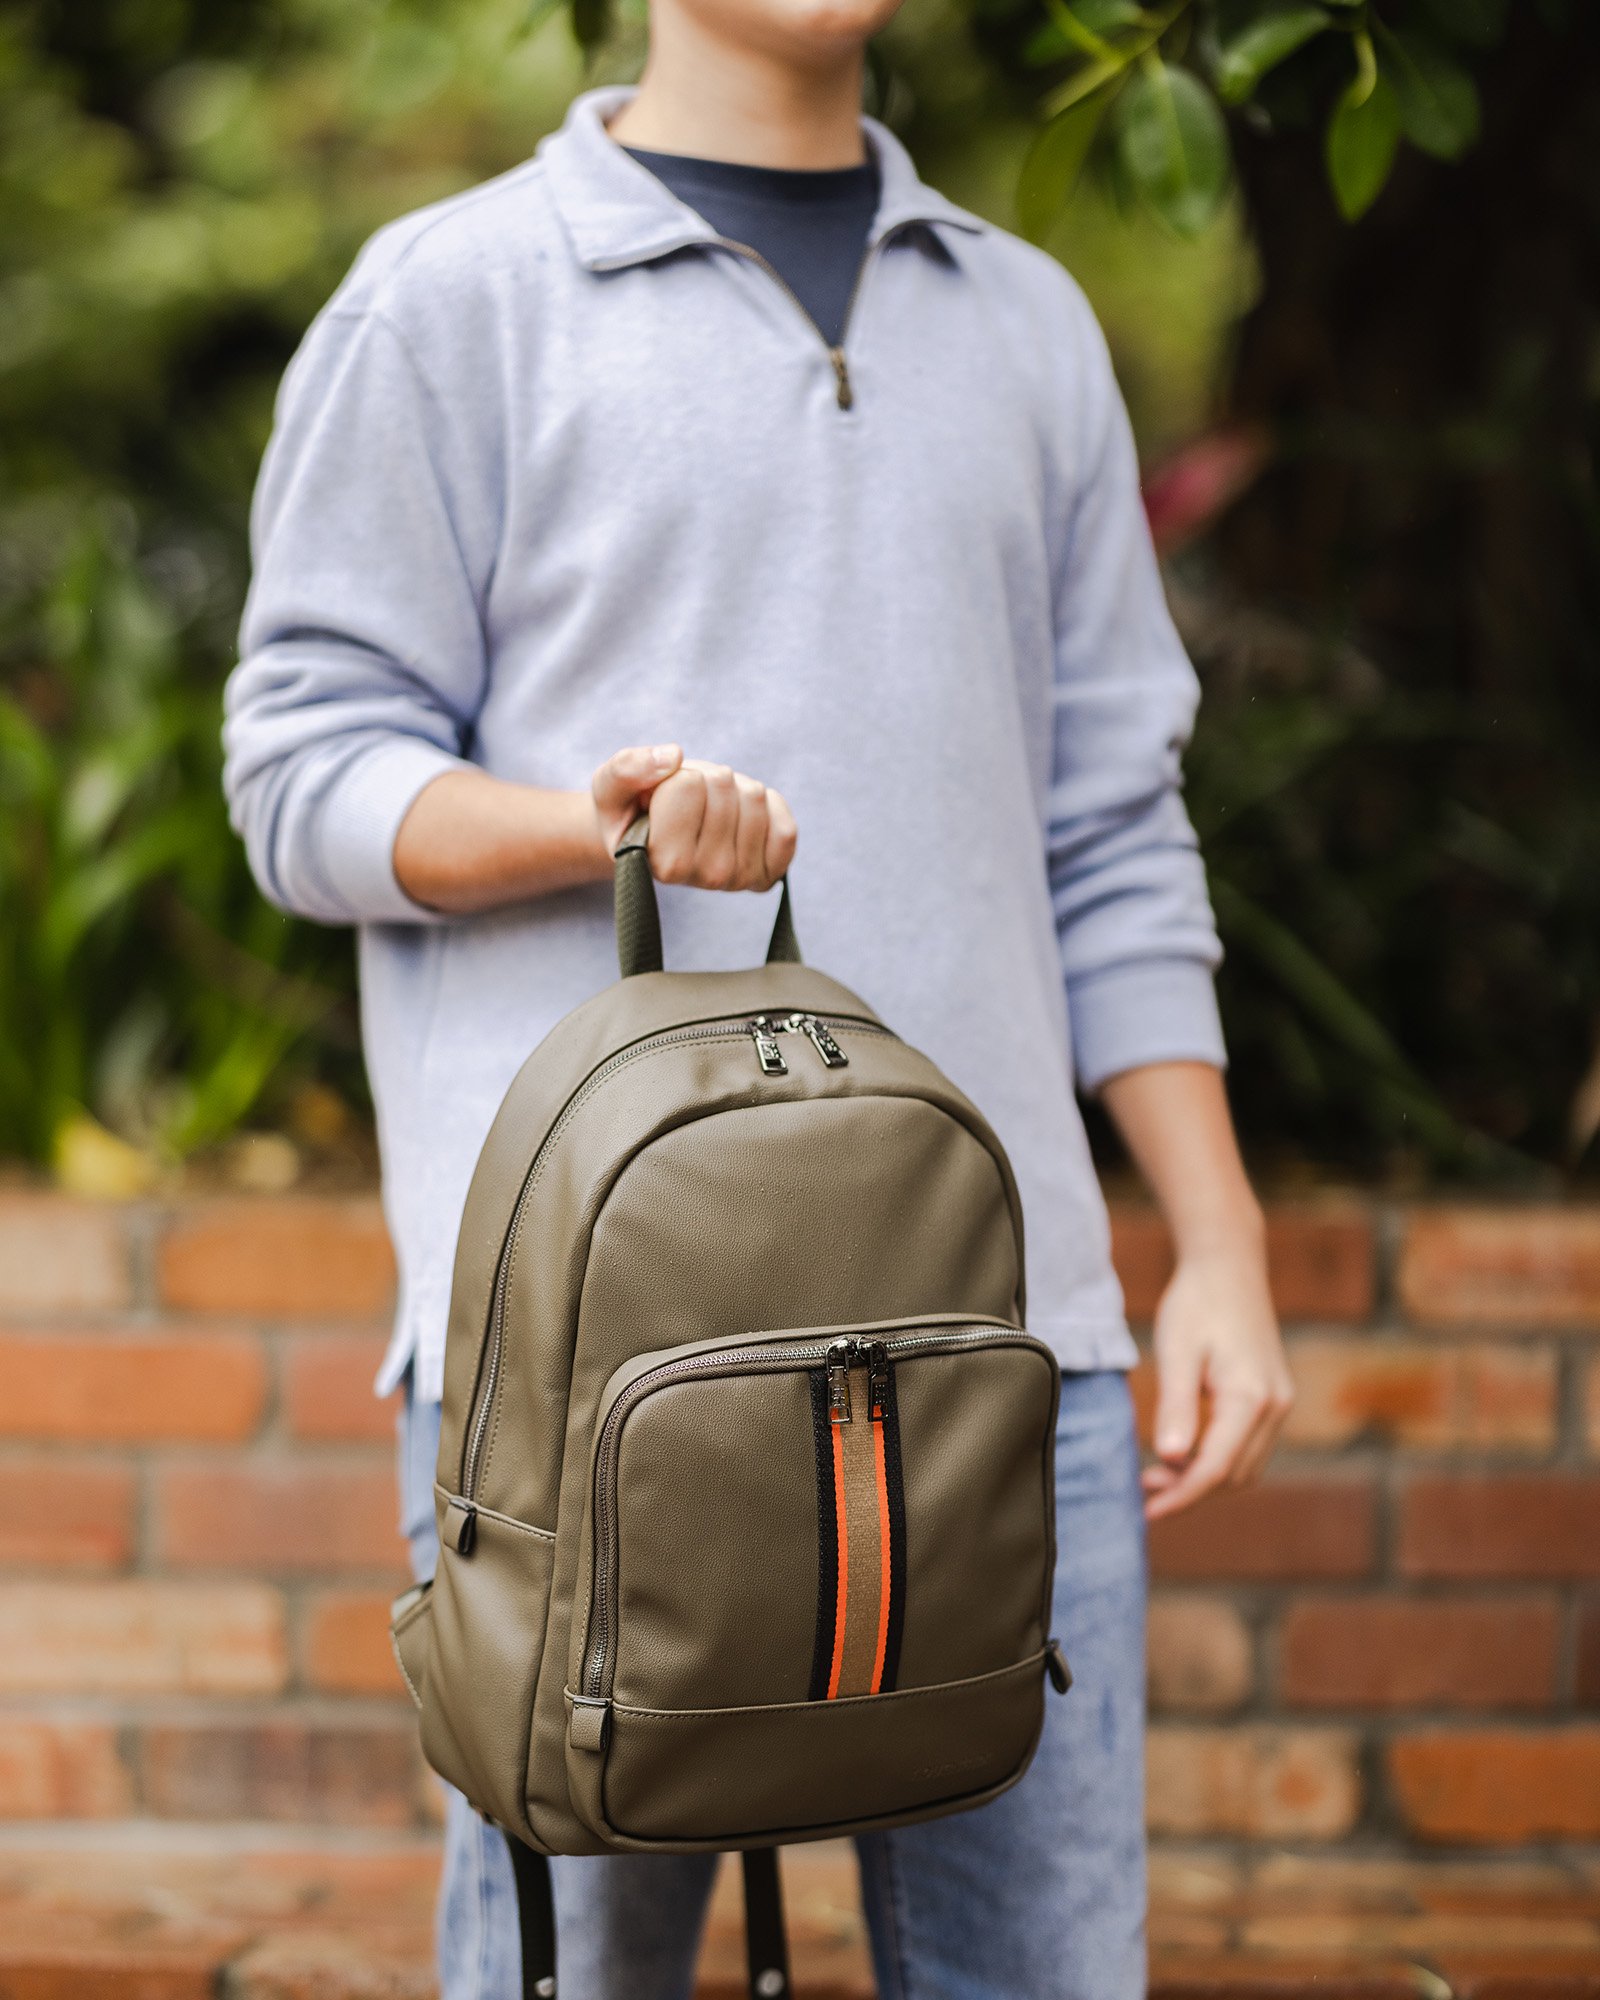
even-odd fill
[{"label": "folded light blue collar of the quarter-zip sweatshirt, both sides", "polygon": [[[690,244],[718,242],[704,216],[680,202],[606,132],[630,96],[626,88],[586,90],[574,98],[560,132],[538,148],[550,198],[586,270],[622,270]],[[862,118],[862,132],[878,162],[882,188],[868,250],[912,222],[968,234],[984,230],[978,216],[918,180],[910,154],[886,126]]]}]

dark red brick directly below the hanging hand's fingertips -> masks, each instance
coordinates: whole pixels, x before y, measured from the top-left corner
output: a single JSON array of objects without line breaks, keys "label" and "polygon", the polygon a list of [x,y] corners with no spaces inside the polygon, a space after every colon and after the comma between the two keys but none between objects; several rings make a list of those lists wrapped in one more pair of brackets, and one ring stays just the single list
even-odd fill
[{"label": "dark red brick directly below the hanging hand's fingertips", "polygon": [[1170,1578],[1368,1576],[1378,1496],[1366,1480],[1274,1478],[1158,1520],[1150,1560]]}]

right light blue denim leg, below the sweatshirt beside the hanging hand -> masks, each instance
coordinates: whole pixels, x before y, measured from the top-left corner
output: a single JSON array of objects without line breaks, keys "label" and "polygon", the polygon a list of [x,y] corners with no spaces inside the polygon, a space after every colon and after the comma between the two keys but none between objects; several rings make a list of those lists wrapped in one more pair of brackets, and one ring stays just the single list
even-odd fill
[{"label": "right light blue denim leg, below the sweatshirt beside the hanging hand", "polygon": [[1140,2000],[1144,1516],[1122,1374],[1062,1378],[1054,1630],[1028,1776],[976,1812],[856,1842],[884,2000]]}]

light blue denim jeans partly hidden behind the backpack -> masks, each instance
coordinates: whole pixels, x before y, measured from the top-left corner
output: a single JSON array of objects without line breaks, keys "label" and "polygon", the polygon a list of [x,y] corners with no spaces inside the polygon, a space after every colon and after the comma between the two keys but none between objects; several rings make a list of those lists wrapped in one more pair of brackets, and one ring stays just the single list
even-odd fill
[{"label": "light blue denim jeans partly hidden behind the backpack", "polygon": [[[432,1576],[438,1404],[400,1420],[402,1526]],[[1062,1378],[1054,1630],[1072,1662],[1004,1798],[856,1842],[884,2000],[1144,1994],[1144,1524],[1124,1376]],[[564,2000],[688,2000],[716,1856],[554,1864]],[[442,2000],[520,2000],[502,1836],[450,1792],[438,1906]]]}]

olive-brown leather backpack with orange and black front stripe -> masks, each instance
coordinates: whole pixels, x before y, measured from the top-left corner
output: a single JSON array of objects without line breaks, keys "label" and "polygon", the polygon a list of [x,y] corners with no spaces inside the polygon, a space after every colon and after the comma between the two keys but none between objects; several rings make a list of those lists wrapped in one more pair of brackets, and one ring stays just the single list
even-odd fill
[{"label": "olive-brown leather backpack with orange and black front stripe", "polygon": [[528,1992],[544,1856],[726,1848],[772,1996],[772,1850],[994,1798],[1068,1684],[1060,1372],[982,1114],[800,962],[788,882],[764,966],[660,970],[646,840],[620,982],[472,1178],[440,1560],[394,1650],[428,1762],[510,1836]]}]

